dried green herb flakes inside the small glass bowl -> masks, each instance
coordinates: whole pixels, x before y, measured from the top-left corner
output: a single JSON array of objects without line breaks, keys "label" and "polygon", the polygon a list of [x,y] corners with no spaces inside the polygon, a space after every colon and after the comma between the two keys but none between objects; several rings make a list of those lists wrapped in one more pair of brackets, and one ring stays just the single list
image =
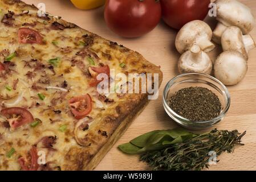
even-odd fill
[{"label": "dried green herb flakes inside the small glass bowl", "polygon": [[189,87],[178,90],[168,100],[175,113],[191,121],[209,121],[221,113],[221,102],[211,90]]}]

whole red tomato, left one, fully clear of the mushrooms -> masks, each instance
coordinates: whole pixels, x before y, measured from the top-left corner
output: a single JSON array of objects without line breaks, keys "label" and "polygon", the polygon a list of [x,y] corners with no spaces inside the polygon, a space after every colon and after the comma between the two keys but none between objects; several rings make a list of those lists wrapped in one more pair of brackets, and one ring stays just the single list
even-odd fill
[{"label": "whole red tomato, left one, fully clear of the mushrooms", "polygon": [[107,0],[105,22],[117,35],[135,38],[152,31],[161,19],[159,0]]}]

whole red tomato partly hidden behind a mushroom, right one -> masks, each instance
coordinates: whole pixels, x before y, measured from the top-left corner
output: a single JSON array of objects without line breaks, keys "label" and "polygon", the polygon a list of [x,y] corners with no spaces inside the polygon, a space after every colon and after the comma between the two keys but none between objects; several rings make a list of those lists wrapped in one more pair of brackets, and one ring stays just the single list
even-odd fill
[{"label": "whole red tomato partly hidden behind a mushroom, right one", "polygon": [[180,29],[192,20],[204,20],[210,0],[160,0],[162,19],[170,27]]}]

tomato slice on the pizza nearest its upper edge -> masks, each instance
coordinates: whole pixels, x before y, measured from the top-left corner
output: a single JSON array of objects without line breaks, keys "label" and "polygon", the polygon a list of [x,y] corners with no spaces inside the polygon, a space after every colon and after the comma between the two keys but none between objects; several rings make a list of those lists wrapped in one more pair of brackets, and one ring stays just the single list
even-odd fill
[{"label": "tomato slice on the pizza nearest its upper edge", "polygon": [[42,44],[43,38],[38,31],[31,28],[19,28],[18,39],[21,44]]}]

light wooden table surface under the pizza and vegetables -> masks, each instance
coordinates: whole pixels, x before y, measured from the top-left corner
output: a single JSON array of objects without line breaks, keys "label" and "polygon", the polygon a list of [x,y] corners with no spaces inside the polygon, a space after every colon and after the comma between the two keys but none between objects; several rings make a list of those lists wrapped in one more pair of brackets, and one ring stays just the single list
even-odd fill
[{"label": "light wooden table surface under the pizza and vegetables", "polygon": [[[97,166],[96,170],[145,170],[145,163],[139,161],[137,155],[125,155],[117,146],[126,143],[138,135],[152,130],[173,129],[177,127],[162,106],[162,90],[171,78],[178,75],[177,60],[180,56],[174,48],[176,31],[161,22],[155,30],[137,39],[124,39],[111,32],[104,22],[103,7],[95,10],[83,11],[76,9],[69,0],[23,0],[26,3],[46,4],[46,11],[62,16],[68,22],[94,32],[104,38],[123,44],[125,47],[140,52],[147,60],[156,65],[161,65],[164,80],[160,88],[158,100],[153,100],[145,108],[143,113],[133,121],[129,129],[112,147],[105,158]],[[239,0],[249,6],[256,17],[255,0]],[[216,21],[206,18],[206,22],[214,28]],[[256,28],[251,32],[256,40]],[[210,53],[212,59],[220,53],[217,48]],[[235,86],[229,86],[231,94],[231,107],[226,118],[218,123],[217,129],[228,129],[247,131],[243,138],[245,146],[235,148],[233,154],[222,154],[218,156],[220,162],[210,166],[210,170],[256,170],[256,49],[249,53],[249,69],[245,79]],[[213,128],[212,128],[213,129]],[[209,131],[210,129],[208,129]]]}]

